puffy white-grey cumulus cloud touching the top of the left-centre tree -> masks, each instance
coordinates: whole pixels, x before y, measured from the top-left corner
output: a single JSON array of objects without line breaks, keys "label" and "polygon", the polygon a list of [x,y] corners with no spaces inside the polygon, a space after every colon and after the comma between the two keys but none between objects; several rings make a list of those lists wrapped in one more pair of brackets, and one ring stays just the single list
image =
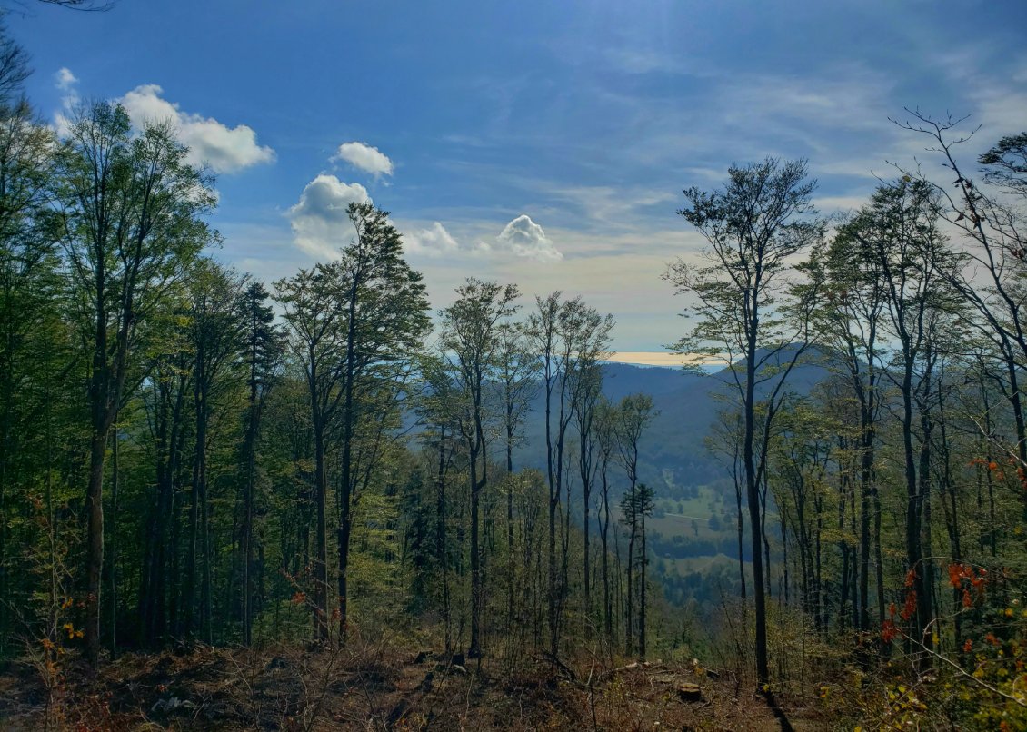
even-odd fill
[{"label": "puffy white-grey cumulus cloud touching the top of the left-centre tree", "polygon": [[359,183],[343,183],[327,174],[317,176],[289,209],[296,244],[313,257],[335,258],[351,234],[346,208],[350,203],[369,202],[368,189]]}]

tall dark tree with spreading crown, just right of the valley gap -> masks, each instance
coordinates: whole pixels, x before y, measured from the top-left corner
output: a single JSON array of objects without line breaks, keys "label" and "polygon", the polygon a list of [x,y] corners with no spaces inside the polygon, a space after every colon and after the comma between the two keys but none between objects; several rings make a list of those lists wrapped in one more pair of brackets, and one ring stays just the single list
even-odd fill
[{"label": "tall dark tree with spreading crown, just right of the valley gap", "polygon": [[[812,213],[815,182],[807,182],[803,160],[732,166],[722,190],[690,188],[687,207],[679,214],[707,240],[705,267],[678,260],[667,278],[681,294],[695,297],[690,310],[698,316],[691,333],[675,348],[710,358],[726,357],[743,413],[743,472],[753,542],[753,596],[756,614],[756,676],[762,689],[769,680],[766,600],[761,581],[763,522],[760,485],[765,452],[758,455],[757,387],[773,380],[778,393],[788,372],[803,350],[794,347],[804,336],[805,322],[783,320],[779,297],[791,259],[815,241],[822,225],[805,217]],[[764,412],[767,433],[773,404]],[[763,440],[764,447],[766,440]]]}]

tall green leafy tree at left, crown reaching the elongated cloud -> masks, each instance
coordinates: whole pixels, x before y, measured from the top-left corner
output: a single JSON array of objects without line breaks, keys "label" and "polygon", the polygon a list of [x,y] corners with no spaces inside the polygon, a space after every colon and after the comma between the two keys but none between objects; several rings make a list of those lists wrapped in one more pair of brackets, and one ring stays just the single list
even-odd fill
[{"label": "tall green leafy tree at left, crown reaching the elongated cloud", "polygon": [[108,436],[140,378],[132,356],[148,318],[214,237],[200,216],[215,199],[211,180],[186,164],[169,125],[147,124],[134,136],[119,105],[81,110],[68,143],[61,158],[62,243],[83,324],[90,323],[85,639],[96,664]]}]

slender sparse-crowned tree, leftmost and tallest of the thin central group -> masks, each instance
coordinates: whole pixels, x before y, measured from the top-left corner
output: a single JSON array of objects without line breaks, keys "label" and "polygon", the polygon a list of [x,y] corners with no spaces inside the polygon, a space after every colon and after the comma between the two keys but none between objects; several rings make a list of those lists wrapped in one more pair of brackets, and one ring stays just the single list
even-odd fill
[{"label": "slender sparse-crowned tree, leftmost and tallest of the thin central group", "polygon": [[441,313],[439,339],[459,398],[457,425],[467,450],[470,470],[470,646],[467,656],[481,656],[482,557],[479,505],[489,481],[488,444],[493,431],[489,382],[500,369],[500,323],[517,311],[516,285],[502,286],[468,278],[457,287],[457,300]]}]

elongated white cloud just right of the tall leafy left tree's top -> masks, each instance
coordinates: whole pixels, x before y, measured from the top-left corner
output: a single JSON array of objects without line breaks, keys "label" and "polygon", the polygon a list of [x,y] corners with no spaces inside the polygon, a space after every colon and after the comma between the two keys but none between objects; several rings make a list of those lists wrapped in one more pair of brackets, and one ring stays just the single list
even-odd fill
[{"label": "elongated white cloud just right of the tall leafy left tree's top", "polygon": [[163,99],[162,91],[157,84],[143,84],[119,102],[136,126],[169,120],[179,139],[189,147],[190,163],[205,163],[217,172],[235,172],[274,160],[274,150],[259,145],[252,127],[229,127],[214,118],[183,112],[177,104]]}]

